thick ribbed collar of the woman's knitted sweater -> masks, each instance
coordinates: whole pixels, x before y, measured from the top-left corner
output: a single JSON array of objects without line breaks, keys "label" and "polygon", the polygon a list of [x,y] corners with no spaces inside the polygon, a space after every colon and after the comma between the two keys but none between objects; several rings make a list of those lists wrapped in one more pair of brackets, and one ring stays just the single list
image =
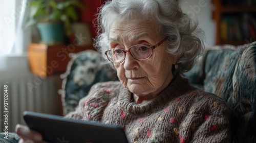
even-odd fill
[{"label": "thick ribbed collar of the woman's knitted sweater", "polygon": [[187,79],[178,75],[156,98],[143,104],[131,102],[132,93],[129,89],[122,86],[118,95],[118,104],[125,113],[143,114],[157,112],[165,104],[191,90],[195,90],[195,88],[189,84]]}]

